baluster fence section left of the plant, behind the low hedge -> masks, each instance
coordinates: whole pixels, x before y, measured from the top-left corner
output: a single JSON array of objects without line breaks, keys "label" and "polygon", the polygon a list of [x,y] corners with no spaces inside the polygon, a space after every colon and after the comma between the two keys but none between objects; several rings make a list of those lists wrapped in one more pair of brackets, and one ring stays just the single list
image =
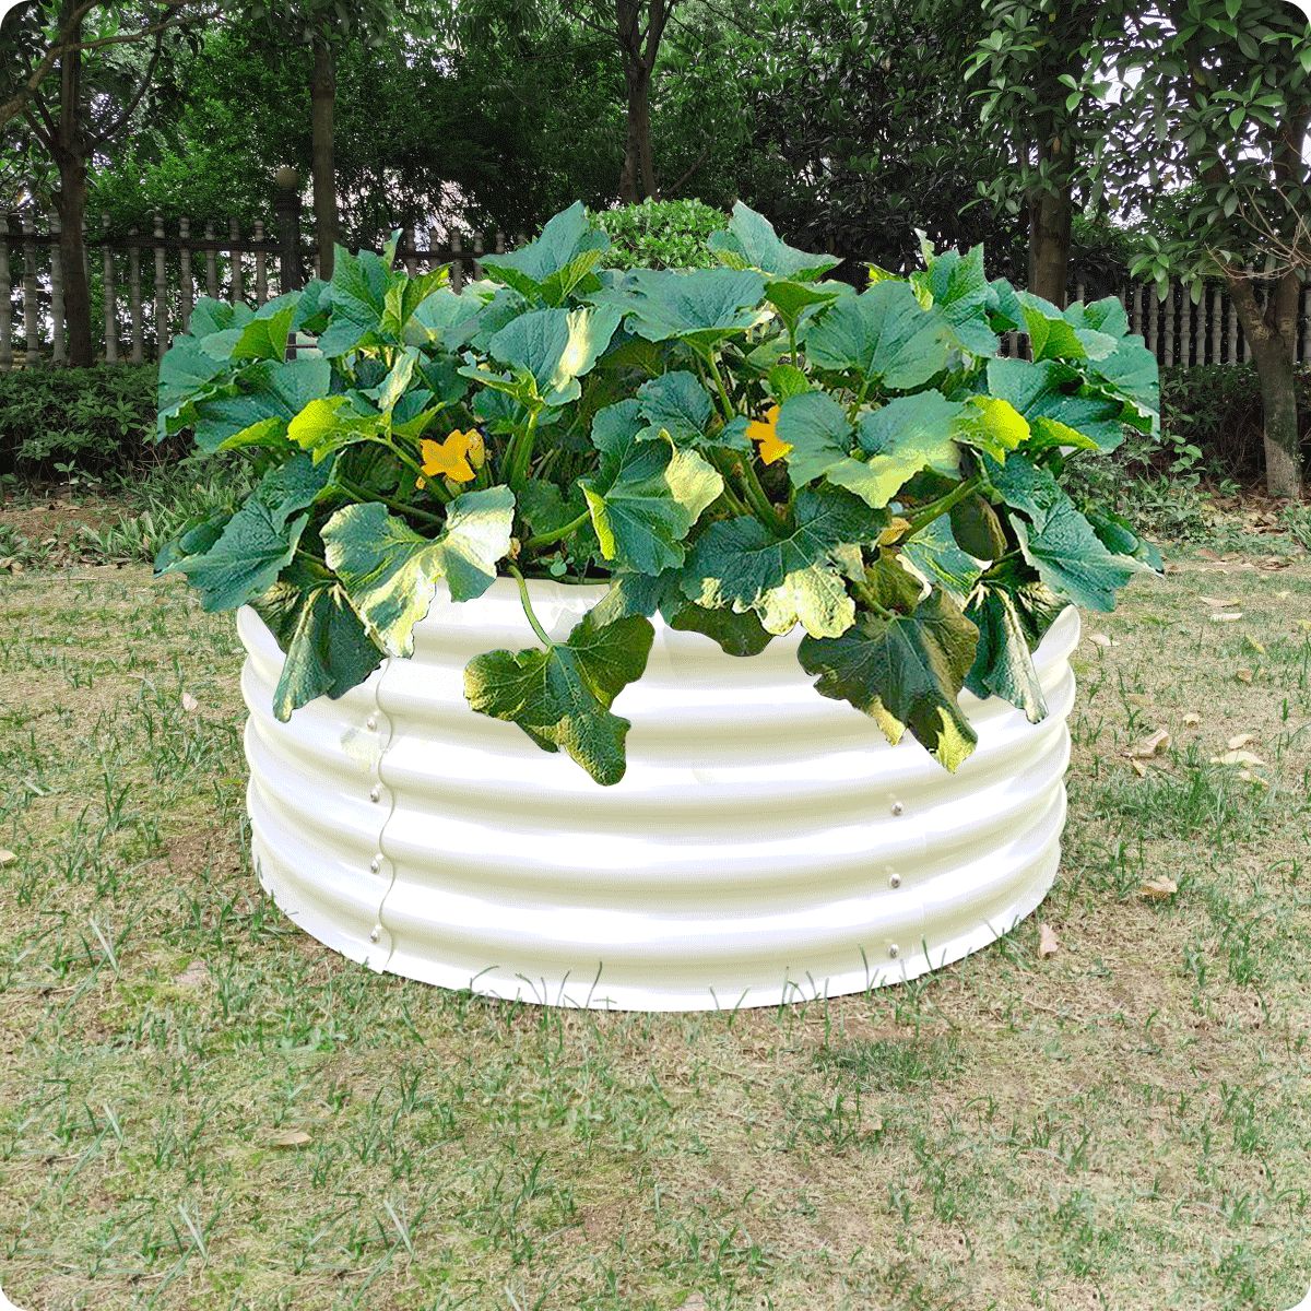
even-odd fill
[{"label": "baluster fence section left of the plant, behind the low hedge", "polygon": [[[228,223],[224,236],[219,236],[218,224],[208,220],[202,236],[184,218],[178,220],[177,233],[169,236],[164,220],[156,216],[149,236],[130,228],[126,237],[110,237],[109,222],[109,215],[104,215],[98,237],[85,227],[83,231],[88,286],[98,282],[102,303],[104,340],[98,343],[98,358],[106,363],[139,364],[147,358],[159,359],[173,336],[187,330],[199,295],[233,304],[244,300],[257,308],[283,290],[302,286],[300,270],[305,266],[312,267],[316,277],[319,274],[317,249],[302,248],[299,231],[294,233],[291,249],[296,252],[300,269],[294,273],[288,267],[287,244],[270,239],[261,220],[256,220],[249,236],[241,232],[236,219]],[[430,228],[427,239],[427,246],[420,249],[414,228],[404,229],[396,258],[409,274],[416,274],[421,265],[434,269],[448,264],[455,291],[460,291],[469,274],[475,279],[482,277],[480,256],[485,246],[481,233],[461,239],[452,232],[448,244],[443,245],[437,229]],[[496,233],[490,249],[496,253],[506,249],[503,233]],[[374,253],[382,254],[382,250]],[[143,256],[147,265],[153,257],[153,278],[148,286],[143,278]],[[98,279],[93,279],[93,273],[98,273]],[[22,325],[21,341],[16,342],[18,324]],[[0,372],[66,361],[59,219],[51,215],[46,231],[37,231],[30,211],[8,215],[0,222]]]}]

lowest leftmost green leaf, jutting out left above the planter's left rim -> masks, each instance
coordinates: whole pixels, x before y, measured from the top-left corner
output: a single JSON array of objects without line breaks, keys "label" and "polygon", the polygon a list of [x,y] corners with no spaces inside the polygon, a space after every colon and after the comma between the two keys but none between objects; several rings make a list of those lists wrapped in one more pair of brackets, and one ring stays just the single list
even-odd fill
[{"label": "lowest leftmost green leaf, jutting out left above the planter's left rim", "polygon": [[336,467],[296,455],[269,469],[207,549],[166,560],[157,574],[186,574],[206,611],[236,610],[262,595],[296,553],[309,522],[299,511],[332,488]]}]

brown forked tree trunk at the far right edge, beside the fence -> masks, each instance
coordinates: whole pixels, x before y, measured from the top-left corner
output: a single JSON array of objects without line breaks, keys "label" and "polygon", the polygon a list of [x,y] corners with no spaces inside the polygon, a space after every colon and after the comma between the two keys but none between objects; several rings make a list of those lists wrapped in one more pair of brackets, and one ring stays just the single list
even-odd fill
[{"label": "brown forked tree trunk at the far right edge, beside the fence", "polygon": [[1226,270],[1224,281],[1261,380],[1265,490],[1269,496],[1301,497],[1302,448],[1294,374],[1301,279],[1295,271],[1285,273],[1270,288],[1264,313],[1242,270]]}]

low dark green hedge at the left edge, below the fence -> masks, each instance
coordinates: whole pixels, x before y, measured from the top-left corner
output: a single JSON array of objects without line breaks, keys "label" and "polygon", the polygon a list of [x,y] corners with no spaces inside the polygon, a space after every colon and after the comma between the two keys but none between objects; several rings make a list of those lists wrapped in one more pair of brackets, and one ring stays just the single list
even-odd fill
[{"label": "low dark green hedge at the left edge, below the fence", "polygon": [[0,475],[39,481],[76,465],[102,477],[180,459],[184,434],[155,444],[157,380],[153,363],[0,375]]}]

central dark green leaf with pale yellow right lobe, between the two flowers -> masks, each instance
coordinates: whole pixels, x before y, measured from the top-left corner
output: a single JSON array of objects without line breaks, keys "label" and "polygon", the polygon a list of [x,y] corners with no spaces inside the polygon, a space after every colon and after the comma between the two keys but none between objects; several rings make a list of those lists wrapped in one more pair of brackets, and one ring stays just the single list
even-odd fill
[{"label": "central dark green leaf with pale yellow right lobe, between the two flowers", "polygon": [[600,468],[579,486],[603,556],[657,574],[683,562],[683,539],[724,479],[692,450],[638,440],[638,404],[619,401],[597,414],[591,440]]}]

